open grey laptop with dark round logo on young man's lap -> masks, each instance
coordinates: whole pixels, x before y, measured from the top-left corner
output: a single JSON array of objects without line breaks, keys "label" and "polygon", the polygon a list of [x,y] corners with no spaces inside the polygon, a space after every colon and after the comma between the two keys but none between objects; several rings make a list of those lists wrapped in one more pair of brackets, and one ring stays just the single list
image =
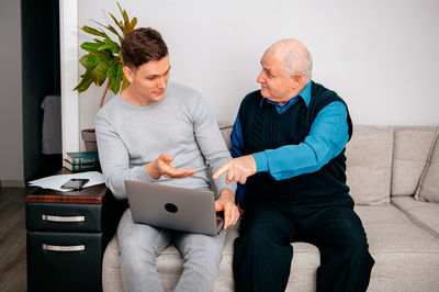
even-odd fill
[{"label": "open grey laptop with dark round logo on young man's lap", "polygon": [[224,226],[211,191],[125,180],[135,223],[217,235]]}]

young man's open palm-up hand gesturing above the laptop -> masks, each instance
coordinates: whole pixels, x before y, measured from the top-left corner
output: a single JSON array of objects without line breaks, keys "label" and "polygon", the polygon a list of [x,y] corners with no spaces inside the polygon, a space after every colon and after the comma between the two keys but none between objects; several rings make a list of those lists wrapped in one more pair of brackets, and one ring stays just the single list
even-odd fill
[{"label": "young man's open palm-up hand gesturing above the laptop", "polygon": [[161,176],[166,178],[182,179],[196,172],[193,168],[177,169],[171,166],[173,157],[170,154],[160,154],[160,156],[146,165],[146,171],[153,179],[159,179]]}]

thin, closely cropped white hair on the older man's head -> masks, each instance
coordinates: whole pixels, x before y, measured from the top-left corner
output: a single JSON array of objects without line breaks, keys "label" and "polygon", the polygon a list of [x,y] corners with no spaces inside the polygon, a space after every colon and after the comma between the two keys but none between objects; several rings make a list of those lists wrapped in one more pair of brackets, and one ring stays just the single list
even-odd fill
[{"label": "thin, closely cropped white hair on the older man's head", "polygon": [[300,74],[305,83],[311,81],[313,58],[308,49],[297,40],[281,40],[270,46],[266,54],[279,54],[282,58],[283,72],[286,76]]}]

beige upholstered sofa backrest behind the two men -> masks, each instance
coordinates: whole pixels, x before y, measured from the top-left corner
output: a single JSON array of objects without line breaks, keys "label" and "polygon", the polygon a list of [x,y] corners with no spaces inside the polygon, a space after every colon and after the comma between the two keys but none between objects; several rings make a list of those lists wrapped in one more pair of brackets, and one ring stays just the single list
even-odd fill
[{"label": "beige upholstered sofa backrest behind the two men", "polygon": [[[230,148],[233,124],[218,126]],[[383,205],[391,194],[414,195],[437,128],[353,125],[346,175],[356,204]]]}]

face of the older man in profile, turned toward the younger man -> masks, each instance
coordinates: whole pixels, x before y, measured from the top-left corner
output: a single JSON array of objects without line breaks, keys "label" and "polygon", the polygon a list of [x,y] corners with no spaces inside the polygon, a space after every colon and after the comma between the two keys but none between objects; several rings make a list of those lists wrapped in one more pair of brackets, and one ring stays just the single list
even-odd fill
[{"label": "face of the older man in profile, turned toward the younger man", "polygon": [[261,59],[262,70],[257,82],[261,83],[261,94],[279,104],[286,103],[294,98],[294,78],[286,76],[282,69],[282,61],[278,55],[264,54]]}]

